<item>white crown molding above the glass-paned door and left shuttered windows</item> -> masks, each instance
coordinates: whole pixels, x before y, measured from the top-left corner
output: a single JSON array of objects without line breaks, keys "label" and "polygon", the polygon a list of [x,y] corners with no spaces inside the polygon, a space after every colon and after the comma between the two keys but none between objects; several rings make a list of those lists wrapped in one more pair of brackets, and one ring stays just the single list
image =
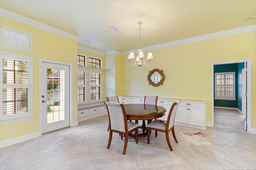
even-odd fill
[{"label": "white crown molding above the glass-paned door and left shuttered windows", "polygon": [[21,22],[21,23],[25,23],[26,25],[30,25],[32,27],[43,29],[45,31],[55,33],[57,35],[60,35],[60,36],[63,36],[63,37],[69,38],[69,39],[73,39],[75,41],[78,41],[78,39],[80,38],[77,35],[68,33],[66,31],[63,31],[61,29],[52,27],[52,26],[44,24],[42,22],[32,20],[31,18],[22,16],[20,14],[14,13],[12,11],[6,10],[4,8],[1,8],[1,7],[0,7],[0,11],[1,11],[0,16],[2,16],[2,17],[9,18],[11,20],[18,21],[18,22]]}]

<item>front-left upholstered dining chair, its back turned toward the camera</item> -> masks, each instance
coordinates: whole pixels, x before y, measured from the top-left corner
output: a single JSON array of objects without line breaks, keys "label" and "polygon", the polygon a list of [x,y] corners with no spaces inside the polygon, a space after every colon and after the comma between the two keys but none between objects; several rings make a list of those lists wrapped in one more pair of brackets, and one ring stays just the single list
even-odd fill
[{"label": "front-left upholstered dining chair, its back turned toward the camera", "polygon": [[107,149],[110,148],[113,132],[116,132],[124,135],[125,140],[124,140],[123,154],[125,154],[129,133],[135,131],[136,144],[138,143],[139,125],[138,123],[127,121],[124,104],[119,104],[115,102],[106,102],[106,107],[108,110],[108,117],[110,122],[110,131],[109,131]]}]

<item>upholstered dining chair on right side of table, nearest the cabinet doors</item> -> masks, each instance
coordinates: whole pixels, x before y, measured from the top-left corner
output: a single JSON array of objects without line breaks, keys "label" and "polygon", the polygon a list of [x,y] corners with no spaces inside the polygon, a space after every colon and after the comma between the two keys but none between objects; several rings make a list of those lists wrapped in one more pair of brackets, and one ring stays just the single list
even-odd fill
[{"label": "upholstered dining chair on right side of table, nearest the cabinet doors", "polygon": [[172,145],[171,145],[170,139],[169,139],[169,132],[172,131],[172,136],[173,136],[175,142],[178,143],[176,135],[175,135],[175,131],[174,131],[174,119],[175,119],[177,108],[180,103],[181,103],[181,100],[178,100],[172,104],[172,107],[168,114],[167,121],[162,121],[162,120],[156,119],[156,120],[148,123],[148,127],[147,127],[148,144],[150,143],[150,131],[151,130],[156,131],[156,134],[155,134],[156,137],[157,137],[157,131],[164,132],[168,147],[172,151]]}]

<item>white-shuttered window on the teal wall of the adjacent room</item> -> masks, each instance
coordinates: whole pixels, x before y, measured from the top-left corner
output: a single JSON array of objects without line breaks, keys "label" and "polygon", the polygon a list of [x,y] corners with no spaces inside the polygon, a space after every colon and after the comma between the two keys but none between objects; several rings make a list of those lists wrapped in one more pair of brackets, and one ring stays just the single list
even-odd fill
[{"label": "white-shuttered window on the teal wall of the adjacent room", "polygon": [[215,73],[215,98],[235,100],[235,72]]}]

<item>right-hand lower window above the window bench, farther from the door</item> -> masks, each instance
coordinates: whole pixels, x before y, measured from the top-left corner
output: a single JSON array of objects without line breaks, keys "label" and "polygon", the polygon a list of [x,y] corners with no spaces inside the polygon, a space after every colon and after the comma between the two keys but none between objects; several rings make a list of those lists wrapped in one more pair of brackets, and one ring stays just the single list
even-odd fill
[{"label": "right-hand lower window above the window bench, farther from the door", "polygon": [[90,70],[90,102],[101,102],[102,72]]}]

